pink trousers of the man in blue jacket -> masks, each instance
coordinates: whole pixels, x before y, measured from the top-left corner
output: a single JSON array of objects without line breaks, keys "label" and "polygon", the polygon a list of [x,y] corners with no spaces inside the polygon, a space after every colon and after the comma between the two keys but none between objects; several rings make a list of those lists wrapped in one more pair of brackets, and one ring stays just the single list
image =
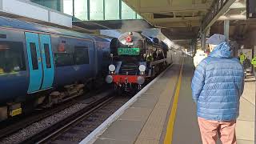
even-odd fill
[{"label": "pink trousers of the man in blue jacket", "polygon": [[198,117],[198,125],[203,144],[216,144],[218,137],[222,141],[222,144],[237,144],[235,137],[235,120],[220,122]]}]

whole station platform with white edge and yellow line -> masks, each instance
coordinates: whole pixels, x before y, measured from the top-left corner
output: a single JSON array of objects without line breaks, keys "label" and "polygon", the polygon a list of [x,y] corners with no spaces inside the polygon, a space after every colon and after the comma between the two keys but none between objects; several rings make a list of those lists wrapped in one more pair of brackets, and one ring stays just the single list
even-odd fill
[{"label": "whole station platform with white edge and yellow line", "polygon": [[[189,57],[174,62],[80,143],[202,143],[191,97],[192,63]],[[248,75],[237,122],[238,144],[254,143],[254,114],[255,78]]]}]

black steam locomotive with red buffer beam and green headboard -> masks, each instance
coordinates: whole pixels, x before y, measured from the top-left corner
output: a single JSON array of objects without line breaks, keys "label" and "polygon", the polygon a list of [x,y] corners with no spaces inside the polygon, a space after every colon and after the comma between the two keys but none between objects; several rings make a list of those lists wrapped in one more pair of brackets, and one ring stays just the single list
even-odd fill
[{"label": "black steam locomotive with red buffer beam and green headboard", "polygon": [[126,32],[110,42],[111,64],[106,82],[114,90],[138,91],[172,62],[172,50],[158,38]]}]

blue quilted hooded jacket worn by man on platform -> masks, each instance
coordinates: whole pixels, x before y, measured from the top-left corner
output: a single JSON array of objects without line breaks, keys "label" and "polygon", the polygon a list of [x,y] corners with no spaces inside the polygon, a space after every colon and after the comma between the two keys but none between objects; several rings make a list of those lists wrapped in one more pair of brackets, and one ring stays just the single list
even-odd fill
[{"label": "blue quilted hooded jacket worn by man on platform", "polygon": [[244,71],[238,59],[231,58],[230,53],[230,46],[223,42],[194,71],[192,96],[200,118],[216,121],[238,118]]}]

